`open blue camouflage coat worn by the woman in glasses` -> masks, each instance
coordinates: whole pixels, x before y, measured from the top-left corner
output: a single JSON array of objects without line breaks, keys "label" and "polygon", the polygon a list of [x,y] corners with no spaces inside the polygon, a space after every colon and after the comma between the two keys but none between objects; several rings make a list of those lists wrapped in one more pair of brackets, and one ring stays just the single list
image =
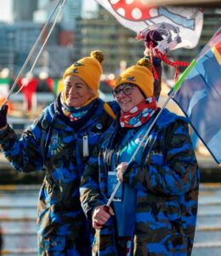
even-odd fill
[{"label": "open blue camouflage coat worn by the woman in glasses", "polygon": [[[107,202],[107,172],[113,171],[111,154],[114,150],[118,154],[115,145],[121,140],[123,129],[119,121],[111,125],[83,172],[81,201],[89,219],[94,207]],[[190,255],[199,169],[186,119],[164,109],[150,131],[141,163],[138,166],[136,160],[132,161],[123,177],[125,183],[136,189],[133,255]],[[96,231],[94,255],[118,255],[115,225],[116,220],[111,217]]]}]

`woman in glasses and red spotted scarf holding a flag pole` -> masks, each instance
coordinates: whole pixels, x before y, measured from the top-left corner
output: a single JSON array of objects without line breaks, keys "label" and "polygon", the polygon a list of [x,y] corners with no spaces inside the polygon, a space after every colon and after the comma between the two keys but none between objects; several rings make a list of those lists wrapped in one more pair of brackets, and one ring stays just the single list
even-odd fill
[{"label": "woman in glasses and red spotted scarf holding a flag pole", "polygon": [[[163,109],[131,160],[159,111],[153,80],[144,58],[118,77],[113,94],[121,113],[85,166],[80,194],[96,230],[94,255],[191,253],[199,170],[187,120]],[[122,183],[108,208],[117,180]]]}]

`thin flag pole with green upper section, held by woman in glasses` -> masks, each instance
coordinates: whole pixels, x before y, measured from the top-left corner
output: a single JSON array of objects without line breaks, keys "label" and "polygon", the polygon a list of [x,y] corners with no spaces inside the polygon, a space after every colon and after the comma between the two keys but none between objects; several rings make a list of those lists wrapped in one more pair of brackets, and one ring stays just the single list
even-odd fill
[{"label": "thin flag pole with green upper section, held by woman in glasses", "polygon": [[[175,96],[175,94],[177,93],[177,91],[178,91],[178,89],[180,88],[181,84],[183,84],[185,77],[188,75],[188,73],[190,73],[190,70],[192,69],[192,67],[195,66],[195,63],[196,63],[195,59],[194,59],[193,61],[191,61],[191,62],[190,62],[190,65],[184,70],[184,73],[182,73],[182,75],[179,77],[179,79],[178,79],[178,81],[176,82],[176,84],[173,85],[172,90],[170,90],[170,92],[168,93],[168,97],[167,97],[166,102],[164,102],[164,104],[163,104],[162,107],[161,107],[161,110],[156,114],[155,119],[153,119],[153,122],[152,122],[151,125],[149,126],[148,130],[144,133],[144,137],[143,137],[143,138],[141,139],[141,141],[139,142],[139,145],[138,145],[138,147],[136,148],[136,150],[134,151],[134,153],[133,153],[131,159],[129,160],[128,165],[129,165],[130,163],[132,163],[133,160],[135,160],[135,157],[136,157],[136,155],[137,155],[138,152],[139,152],[139,148],[141,148],[142,145],[143,145],[143,143],[144,143],[144,141],[146,141],[146,140],[148,139],[149,133],[150,133],[151,129],[152,129],[153,126],[156,124],[156,120],[159,118],[159,116],[160,116],[160,114],[162,113],[163,109],[166,108],[168,102],[173,98],[173,96]],[[116,171],[116,170],[115,170],[115,171]],[[114,197],[115,197],[115,195],[116,195],[116,192],[117,192],[117,190],[120,188],[121,183],[122,183],[121,181],[118,181],[118,182],[116,183],[115,189],[113,190],[113,192],[112,192],[112,194],[111,194],[109,200],[107,201],[107,203],[106,203],[106,205],[105,205],[106,207],[110,207],[110,206],[111,206],[111,202],[114,200]]]}]

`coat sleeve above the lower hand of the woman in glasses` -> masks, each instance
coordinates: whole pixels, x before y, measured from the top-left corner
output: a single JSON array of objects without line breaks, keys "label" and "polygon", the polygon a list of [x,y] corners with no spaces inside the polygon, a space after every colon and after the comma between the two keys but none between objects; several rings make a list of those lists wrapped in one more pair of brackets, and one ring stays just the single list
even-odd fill
[{"label": "coat sleeve above the lower hand of the woman in glasses", "polygon": [[[82,174],[80,186],[80,200],[82,209],[88,219],[91,219],[91,212],[94,207],[105,204],[104,197],[101,195],[99,183],[104,183],[102,177],[99,177],[99,147],[94,148],[87,165]],[[101,185],[102,186],[102,185]]]}]

